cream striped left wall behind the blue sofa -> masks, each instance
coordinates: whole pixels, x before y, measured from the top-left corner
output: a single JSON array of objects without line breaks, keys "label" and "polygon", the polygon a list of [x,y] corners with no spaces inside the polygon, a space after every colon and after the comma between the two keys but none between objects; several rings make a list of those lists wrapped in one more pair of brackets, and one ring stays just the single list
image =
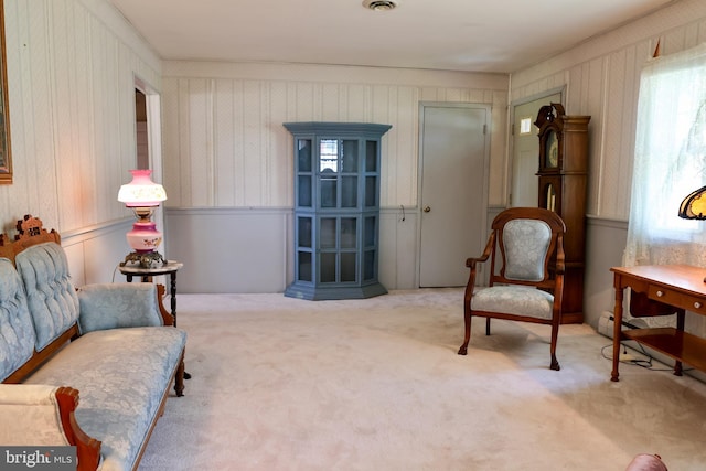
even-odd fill
[{"label": "cream striped left wall behind the blue sofa", "polygon": [[105,0],[4,0],[4,20],[14,183],[0,185],[1,229],[33,214],[72,246],[77,281],[109,281],[129,249],[113,233],[131,220],[116,195],[136,162],[135,76],[160,87],[161,62]]}]

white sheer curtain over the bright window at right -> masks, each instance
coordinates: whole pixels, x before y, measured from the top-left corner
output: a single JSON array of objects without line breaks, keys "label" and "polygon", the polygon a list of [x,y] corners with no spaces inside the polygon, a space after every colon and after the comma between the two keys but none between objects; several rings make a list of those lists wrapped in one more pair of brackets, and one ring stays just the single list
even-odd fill
[{"label": "white sheer curtain over the bright window at right", "polygon": [[623,264],[706,267],[706,221],[677,216],[706,185],[706,44],[644,66],[632,179]]}]

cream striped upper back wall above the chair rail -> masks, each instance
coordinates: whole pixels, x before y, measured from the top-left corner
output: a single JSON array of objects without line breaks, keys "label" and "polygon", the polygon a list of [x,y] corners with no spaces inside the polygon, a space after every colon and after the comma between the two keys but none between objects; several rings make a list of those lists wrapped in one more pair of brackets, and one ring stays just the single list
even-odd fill
[{"label": "cream striped upper back wall above the chair rail", "polygon": [[416,206],[420,101],[492,105],[490,201],[504,202],[506,76],[167,62],[162,83],[171,207],[291,207],[287,121],[392,125],[383,139],[382,206]]}]

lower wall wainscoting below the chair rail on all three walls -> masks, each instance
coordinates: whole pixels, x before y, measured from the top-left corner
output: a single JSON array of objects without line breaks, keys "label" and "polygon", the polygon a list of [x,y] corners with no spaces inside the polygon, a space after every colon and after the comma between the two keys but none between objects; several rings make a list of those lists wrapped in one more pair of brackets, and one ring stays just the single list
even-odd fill
[{"label": "lower wall wainscoting below the chair rail on all three walls", "polygon": [[[488,221],[502,211],[488,210]],[[292,210],[167,208],[165,242],[160,251],[184,267],[179,292],[282,292],[293,278]],[[132,218],[62,234],[74,283],[125,281],[118,264],[130,250],[125,233]],[[379,279],[389,290],[417,289],[419,210],[381,210]],[[622,264],[628,223],[587,218],[585,322],[597,328],[601,312],[613,309],[610,267]],[[460,254],[459,263],[472,254]],[[460,304],[459,304],[460,306]]]}]

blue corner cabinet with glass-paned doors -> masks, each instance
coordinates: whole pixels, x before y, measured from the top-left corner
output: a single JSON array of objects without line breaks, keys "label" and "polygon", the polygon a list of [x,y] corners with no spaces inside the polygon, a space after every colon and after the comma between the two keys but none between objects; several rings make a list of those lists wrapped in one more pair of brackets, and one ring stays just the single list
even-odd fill
[{"label": "blue corner cabinet with glass-paned doors", "polygon": [[295,143],[295,280],[309,300],[385,295],[379,259],[381,141],[392,126],[285,122]]}]

